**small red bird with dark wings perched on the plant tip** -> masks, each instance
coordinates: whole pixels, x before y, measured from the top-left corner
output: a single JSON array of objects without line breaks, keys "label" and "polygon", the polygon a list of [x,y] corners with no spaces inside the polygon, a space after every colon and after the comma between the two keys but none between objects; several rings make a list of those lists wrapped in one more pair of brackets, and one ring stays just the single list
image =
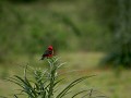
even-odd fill
[{"label": "small red bird with dark wings perched on the plant tip", "polygon": [[53,56],[53,48],[52,48],[52,46],[49,46],[48,49],[41,56],[40,60],[44,60],[45,58],[50,58],[52,56]]}]

